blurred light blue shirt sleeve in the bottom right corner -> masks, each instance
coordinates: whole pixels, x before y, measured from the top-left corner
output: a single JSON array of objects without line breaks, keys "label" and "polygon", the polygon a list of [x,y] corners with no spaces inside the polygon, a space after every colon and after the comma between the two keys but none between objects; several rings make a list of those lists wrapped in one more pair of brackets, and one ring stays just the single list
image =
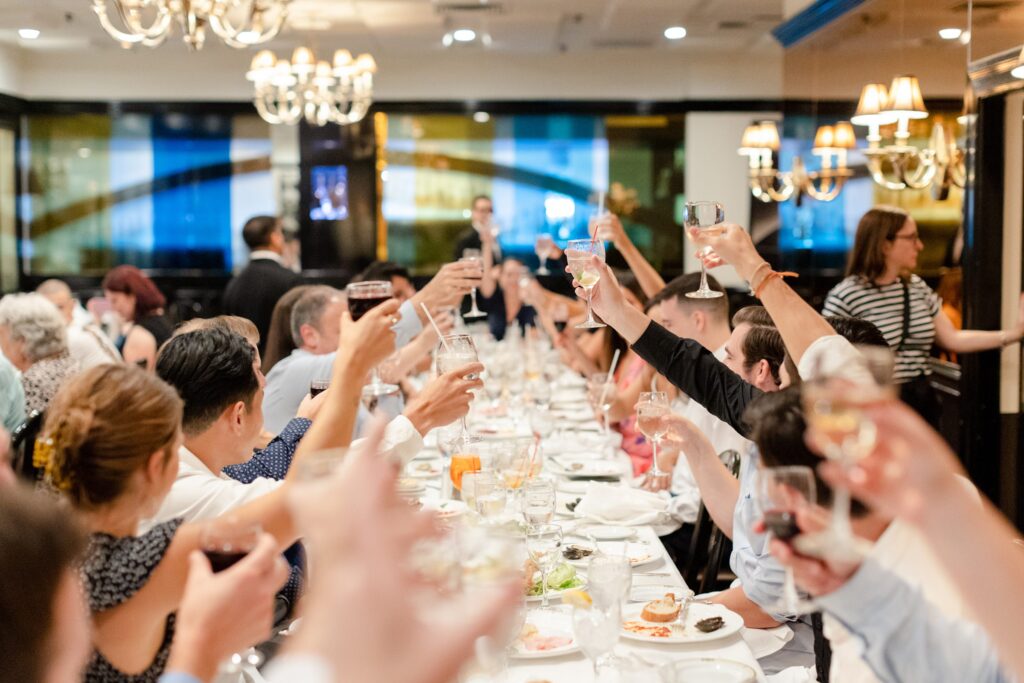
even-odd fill
[{"label": "blurred light blue shirt sleeve in the bottom right corner", "polygon": [[951,620],[873,560],[817,603],[863,646],[864,660],[889,683],[1012,683],[988,635]]}]

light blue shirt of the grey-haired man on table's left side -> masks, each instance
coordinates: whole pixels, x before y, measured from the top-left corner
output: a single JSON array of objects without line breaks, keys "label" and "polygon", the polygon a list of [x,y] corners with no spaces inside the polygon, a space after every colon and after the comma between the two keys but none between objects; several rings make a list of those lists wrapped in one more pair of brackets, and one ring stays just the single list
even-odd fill
[{"label": "light blue shirt of the grey-haired man on table's left side", "polygon": [[[394,326],[395,348],[401,348],[423,330],[423,324],[412,303],[402,303],[398,313],[401,319]],[[309,393],[309,384],[313,380],[331,379],[335,355],[336,353],[316,355],[303,349],[295,349],[270,369],[263,395],[264,429],[274,434],[281,433],[295,417],[299,403]],[[390,397],[382,399],[380,408],[389,417],[401,413],[400,400]],[[362,425],[369,417],[370,414],[360,405],[356,418],[356,434],[361,433]]]}]

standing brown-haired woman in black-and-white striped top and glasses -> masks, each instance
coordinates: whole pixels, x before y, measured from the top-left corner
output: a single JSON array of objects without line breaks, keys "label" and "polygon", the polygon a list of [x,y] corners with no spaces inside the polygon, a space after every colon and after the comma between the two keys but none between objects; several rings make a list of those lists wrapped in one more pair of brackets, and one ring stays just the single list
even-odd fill
[{"label": "standing brown-haired woman in black-and-white striped top and glasses", "polygon": [[901,397],[935,424],[938,403],[928,384],[932,346],[969,353],[1020,341],[1024,295],[1011,330],[957,330],[942,312],[935,292],[911,272],[924,248],[918,224],[905,211],[871,209],[857,225],[847,276],[828,293],[823,314],[873,323],[896,353],[894,379],[901,385]]}]

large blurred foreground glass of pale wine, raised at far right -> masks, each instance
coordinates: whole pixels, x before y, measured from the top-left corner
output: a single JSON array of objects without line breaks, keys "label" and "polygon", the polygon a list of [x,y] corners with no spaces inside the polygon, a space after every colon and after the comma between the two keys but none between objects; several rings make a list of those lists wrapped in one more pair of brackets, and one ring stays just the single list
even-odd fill
[{"label": "large blurred foreground glass of pale wine, raised at far right", "polygon": [[[859,354],[842,366],[823,354],[814,358],[801,389],[808,426],[819,437],[825,457],[844,468],[852,467],[874,447],[878,430],[864,409],[895,393],[895,359],[889,347],[858,346],[857,350]],[[835,559],[859,559],[866,550],[850,527],[850,490],[846,486],[833,489],[831,524],[824,533],[827,538],[819,541],[827,542]]]}]

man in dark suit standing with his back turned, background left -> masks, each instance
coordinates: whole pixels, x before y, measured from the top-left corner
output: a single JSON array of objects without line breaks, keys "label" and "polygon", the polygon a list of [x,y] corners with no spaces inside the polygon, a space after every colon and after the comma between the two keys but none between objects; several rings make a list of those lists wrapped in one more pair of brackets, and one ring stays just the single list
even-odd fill
[{"label": "man in dark suit standing with his back turned, background left", "polygon": [[283,263],[285,230],[279,218],[250,218],[242,228],[242,239],[250,250],[249,264],[227,283],[223,312],[253,322],[259,330],[262,352],[264,340],[270,330],[270,315],[274,304],[285,292],[301,285],[302,276]]}]

